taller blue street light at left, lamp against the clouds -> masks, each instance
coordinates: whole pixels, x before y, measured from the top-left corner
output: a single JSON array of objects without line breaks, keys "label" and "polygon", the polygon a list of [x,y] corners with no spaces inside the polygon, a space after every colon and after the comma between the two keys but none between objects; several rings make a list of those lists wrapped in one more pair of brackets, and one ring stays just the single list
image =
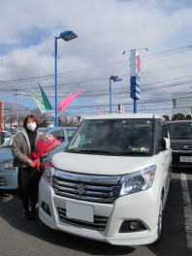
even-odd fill
[{"label": "taller blue street light at left, lamp against the clouds", "polygon": [[73,31],[61,32],[58,37],[54,38],[54,57],[55,57],[55,127],[58,127],[57,112],[57,39],[62,38],[65,42],[73,40],[78,36]]}]

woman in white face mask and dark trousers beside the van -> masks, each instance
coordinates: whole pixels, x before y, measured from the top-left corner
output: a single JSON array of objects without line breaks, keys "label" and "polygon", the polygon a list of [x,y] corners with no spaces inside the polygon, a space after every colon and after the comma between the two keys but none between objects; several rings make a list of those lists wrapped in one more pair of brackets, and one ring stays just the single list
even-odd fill
[{"label": "woman in white face mask and dark trousers beside the van", "polygon": [[[28,115],[23,121],[24,130],[16,134],[12,145],[14,166],[18,167],[18,191],[23,205],[25,221],[37,219],[36,203],[41,174],[35,163],[29,158],[35,150],[38,138],[39,121],[35,115]],[[29,208],[31,207],[31,210]]]}]

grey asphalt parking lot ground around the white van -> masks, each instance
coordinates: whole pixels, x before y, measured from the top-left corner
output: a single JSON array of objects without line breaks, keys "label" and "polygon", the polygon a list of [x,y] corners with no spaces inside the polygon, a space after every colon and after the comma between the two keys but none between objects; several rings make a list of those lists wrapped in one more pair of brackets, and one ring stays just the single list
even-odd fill
[{"label": "grey asphalt parking lot ground around the white van", "polygon": [[163,239],[146,246],[113,246],[24,222],[17,193],[0,192],[0,255],[192,255],[192,172],[173,173],[164,211]]}]

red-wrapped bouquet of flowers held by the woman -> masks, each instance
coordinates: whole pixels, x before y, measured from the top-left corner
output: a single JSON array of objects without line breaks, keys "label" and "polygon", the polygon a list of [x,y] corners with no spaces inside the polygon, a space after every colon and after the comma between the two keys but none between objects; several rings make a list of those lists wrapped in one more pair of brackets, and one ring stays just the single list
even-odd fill
[{"label": "red-wrapped bouquet of flowers held by the woman", "polygon": [[[40,136],[35,151],[31,152],[29,157],[35,163],[35,167],[38,167],[38,171],[42,173],[40,169],[44,167],[44,163],[41,162],[41,158],[48,155],[48,152],[61,144],[55,137],[50,134]],[[41,164],[41,165],[40,165]]]}]

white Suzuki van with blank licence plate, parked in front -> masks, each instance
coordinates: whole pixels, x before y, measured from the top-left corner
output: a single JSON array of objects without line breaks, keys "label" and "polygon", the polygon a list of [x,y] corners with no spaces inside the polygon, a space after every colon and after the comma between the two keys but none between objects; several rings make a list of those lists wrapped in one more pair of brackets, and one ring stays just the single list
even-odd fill
[{"label": "white Suzuki van with blank licence plate, parked in front", "polygon": [[172,173],[164,121],[145,113],[85,117],[40,181],[41,220],[112,244],[160,240]]}]

